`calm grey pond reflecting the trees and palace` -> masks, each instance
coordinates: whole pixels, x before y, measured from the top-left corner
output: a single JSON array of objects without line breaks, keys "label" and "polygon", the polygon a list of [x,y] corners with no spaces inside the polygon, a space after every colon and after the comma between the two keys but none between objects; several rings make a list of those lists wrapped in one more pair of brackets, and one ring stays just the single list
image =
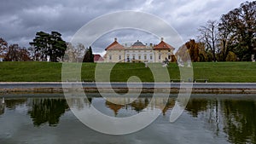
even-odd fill
[{"label": "calm grey pond reflecting the trees and palace", "polygon": [[[4,97],[3,97],[4,96]],[[132,101],[117,105],[111,101]],[[66,101],[62,94],[2,95],[0,97],[0,143],[2,144],[69,144],[69,143],[256,143],[256,95],[192,95],[183,114],[170,123],[169,117],[177,95],[163,98],[150,94],[137,100],[130,97],[104,99],[91,94],[79,102]],[[75,117],[67,103],[83,111],[96,107],[111,117],[125,118],[150,109],[162,113],[143,130],[129,135],[106,135],[91,130]]]}]

